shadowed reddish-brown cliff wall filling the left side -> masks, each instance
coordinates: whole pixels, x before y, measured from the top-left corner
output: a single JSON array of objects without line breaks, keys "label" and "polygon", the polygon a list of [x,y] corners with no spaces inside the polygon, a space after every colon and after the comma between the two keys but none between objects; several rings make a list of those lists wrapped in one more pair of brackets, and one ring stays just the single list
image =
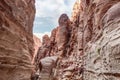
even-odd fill
[{"label": "shadowed reddish-brown cliff wall filling the left side", "polygon": [[0,80],[30,80],[34,0],[0,1]]}]

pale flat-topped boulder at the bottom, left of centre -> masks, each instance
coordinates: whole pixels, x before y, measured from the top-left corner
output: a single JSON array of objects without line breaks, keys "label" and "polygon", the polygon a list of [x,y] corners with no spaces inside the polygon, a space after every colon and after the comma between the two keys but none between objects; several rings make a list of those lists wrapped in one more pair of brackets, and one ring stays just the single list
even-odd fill
[{"label": "pale flat-topped boulder at the bottom, left of centre", "polygon": [[57,61],[57,56],[45,57],[40,60],[40,63],[42,65],[42,69],[40,71],[41,80],[53,79],[53,68],[55,68]]}]

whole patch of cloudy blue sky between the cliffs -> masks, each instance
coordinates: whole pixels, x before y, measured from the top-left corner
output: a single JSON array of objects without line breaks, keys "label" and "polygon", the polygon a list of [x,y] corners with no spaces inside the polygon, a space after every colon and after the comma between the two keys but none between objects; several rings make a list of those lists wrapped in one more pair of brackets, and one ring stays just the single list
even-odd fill
[{"label": "whole patch of cloudy blue sky between the cliffs", "polygon": [[58,18],[62,13],[71,16],[76,0],[36,0],[36,16],[33,33],[39,38],[50,35],[52,29],[58,26]]}]

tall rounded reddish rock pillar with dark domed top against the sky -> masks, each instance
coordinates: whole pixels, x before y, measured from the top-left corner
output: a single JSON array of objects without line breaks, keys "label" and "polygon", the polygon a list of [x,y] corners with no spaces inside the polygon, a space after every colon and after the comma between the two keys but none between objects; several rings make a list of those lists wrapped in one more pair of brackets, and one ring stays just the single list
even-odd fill
[{"label": "tall rounded reddish rock pillar with dark domed top against the sky", "polygon": [[55,38],[58,48],[58,55],[61,56],[66,54],[67,42],[69,38],[68,22],[69,22],[68,16],[66,14],[62,14],[58,21],[59,27],[57,27]]}]

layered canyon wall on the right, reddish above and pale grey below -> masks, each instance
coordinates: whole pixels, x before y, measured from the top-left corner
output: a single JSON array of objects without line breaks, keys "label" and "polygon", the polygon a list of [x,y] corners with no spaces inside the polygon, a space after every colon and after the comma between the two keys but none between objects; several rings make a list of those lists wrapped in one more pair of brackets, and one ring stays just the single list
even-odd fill
[{"label": "layered canyon wall on the right, reddish above and pale grey below", "polygon": [[119,80],[120,1],[81,0],[79,5],[77,39],[84,54],[83,80]]}]

